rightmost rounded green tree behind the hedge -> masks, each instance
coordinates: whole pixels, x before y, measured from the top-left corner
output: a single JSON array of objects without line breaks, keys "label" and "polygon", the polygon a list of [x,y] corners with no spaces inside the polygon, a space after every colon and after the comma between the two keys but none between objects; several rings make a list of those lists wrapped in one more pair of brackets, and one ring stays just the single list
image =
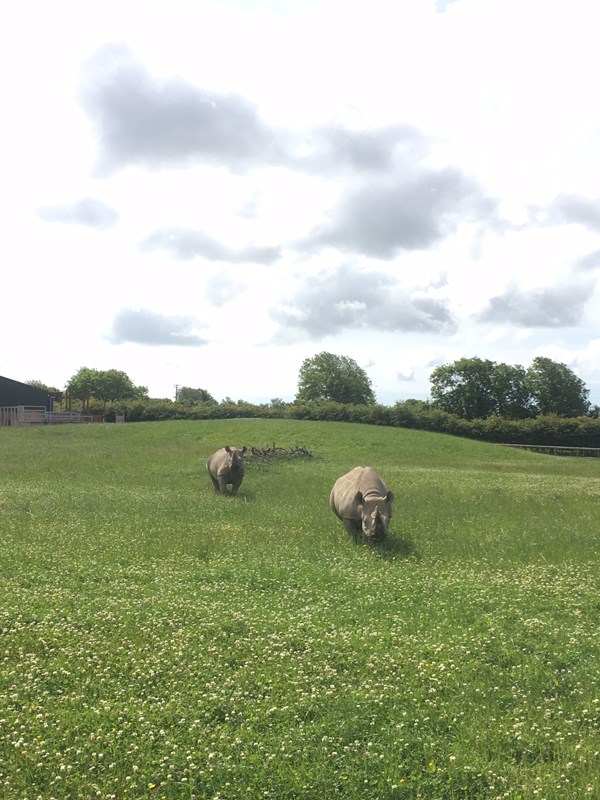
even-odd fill
[{"label": "rightmost rounded green tree behind the hedge", "polygon": [[527,370],[527,385],[538,414],[579,417],[590,410],[585,383],[566,364],[551,358],[533,359]]}]

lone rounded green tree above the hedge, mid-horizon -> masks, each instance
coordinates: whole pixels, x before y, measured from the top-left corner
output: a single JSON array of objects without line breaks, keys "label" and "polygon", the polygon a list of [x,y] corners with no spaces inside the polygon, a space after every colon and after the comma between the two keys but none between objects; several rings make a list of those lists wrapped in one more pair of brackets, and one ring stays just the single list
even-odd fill
[{"label": "lone rounded green tree above the hedge, mid-horizon", "polygon": [[302,362],[296,402],[323,400],[374,405],[375,394],[367,373],[354,359],[333,353],[319,353]]}]

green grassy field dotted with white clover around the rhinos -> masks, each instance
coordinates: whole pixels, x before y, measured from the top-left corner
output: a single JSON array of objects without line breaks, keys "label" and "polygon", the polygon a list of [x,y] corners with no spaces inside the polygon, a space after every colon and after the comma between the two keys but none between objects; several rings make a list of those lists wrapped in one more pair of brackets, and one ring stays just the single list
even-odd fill
[{"label": "green grassy field dotted with white clover around the rhinos", "polygon": [[[213,493],[273,443],[314,457]],[[600,798],[599,506],[598,460],[402,429],[0,429],[0,797]]]}]

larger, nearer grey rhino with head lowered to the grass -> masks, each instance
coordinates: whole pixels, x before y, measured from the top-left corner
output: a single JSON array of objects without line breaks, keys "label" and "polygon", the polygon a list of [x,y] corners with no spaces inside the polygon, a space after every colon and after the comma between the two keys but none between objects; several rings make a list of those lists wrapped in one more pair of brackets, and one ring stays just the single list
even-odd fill
[{"label": "larger, nearer grey rhino with head lowered to the grass", "polygon": [[371,467],[354,467],[338,478],[329,495],[333,513],[355,539],[362,531],[367,541],[381,542],[388,535],[394,495]]}]

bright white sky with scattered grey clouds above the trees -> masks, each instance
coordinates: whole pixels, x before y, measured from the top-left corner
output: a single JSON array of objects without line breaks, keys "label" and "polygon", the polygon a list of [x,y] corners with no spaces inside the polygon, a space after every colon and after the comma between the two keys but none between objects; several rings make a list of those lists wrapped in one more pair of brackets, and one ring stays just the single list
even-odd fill
[{"label": "bright white sky with scattered grey clouds above the trees", "polygon": [[32,0],[0,25],[0,375],[293,400],[354,359],[600,403],[597,0]]}]

